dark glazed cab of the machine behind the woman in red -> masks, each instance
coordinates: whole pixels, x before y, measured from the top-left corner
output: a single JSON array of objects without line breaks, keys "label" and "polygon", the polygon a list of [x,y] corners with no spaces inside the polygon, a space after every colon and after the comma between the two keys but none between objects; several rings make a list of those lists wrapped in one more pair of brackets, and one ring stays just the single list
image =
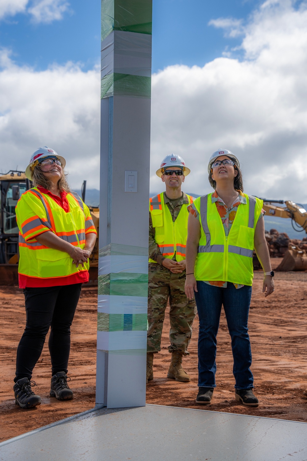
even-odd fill
[{"label": "dark glazed cab of the machine behind the woman in red", "polygon": [[23,171],[0,175],[0,264],[18,262],[18,226],[15,207],[19,197],[30,187]]}]

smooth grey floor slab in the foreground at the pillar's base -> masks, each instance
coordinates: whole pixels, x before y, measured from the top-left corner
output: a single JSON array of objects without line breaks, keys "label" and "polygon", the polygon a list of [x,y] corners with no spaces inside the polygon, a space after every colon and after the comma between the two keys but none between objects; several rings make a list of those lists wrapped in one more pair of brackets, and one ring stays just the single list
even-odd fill
[{"label": "smooth grey floor slab in the foreground at the pillar's base", "polygon": [[146,405],[102,408],[0,444],[0,460],[307,460],[307,423]]}]

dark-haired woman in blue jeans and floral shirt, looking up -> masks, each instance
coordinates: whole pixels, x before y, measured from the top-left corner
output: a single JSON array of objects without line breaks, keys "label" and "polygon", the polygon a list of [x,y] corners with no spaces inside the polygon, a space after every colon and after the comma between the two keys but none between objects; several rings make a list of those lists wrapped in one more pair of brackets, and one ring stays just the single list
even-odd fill
[{"label": "dark-haired woman in blue jeans and floral shirt, looking up", "polygon": [[185,293],[194,297],[199,316],[198,386],[196,402],[209,404],[216,387],[216,335],[224,306],[232,339],[235,396],[243,405],[257,406],[253,393],[248,335],[253,282],[253,250],[264,270],[263,293],[274,291],[269,252],[264,236],[263,201],[243,194],[239,162],[228,150],[209,160],[212,194],[189,207]]}]

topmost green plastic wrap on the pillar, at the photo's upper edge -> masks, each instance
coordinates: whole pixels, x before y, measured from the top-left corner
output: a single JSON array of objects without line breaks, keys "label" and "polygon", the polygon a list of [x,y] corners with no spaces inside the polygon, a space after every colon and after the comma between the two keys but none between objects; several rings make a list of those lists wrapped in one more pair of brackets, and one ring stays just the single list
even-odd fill
[{"label": "topmost green plastic wrap on the pillar, at the photo's upper edge", "polygon": [[101,0],[101,41],[112,30],[152,33],[152,0]]}]

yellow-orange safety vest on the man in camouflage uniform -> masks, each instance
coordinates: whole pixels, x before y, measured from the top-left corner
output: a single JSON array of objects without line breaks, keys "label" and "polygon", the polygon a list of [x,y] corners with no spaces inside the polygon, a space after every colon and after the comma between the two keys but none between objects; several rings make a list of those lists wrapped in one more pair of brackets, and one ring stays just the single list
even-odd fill
[{"label": "yellow-orange safety vest on the man in camouflage uniform", "polygon": [[[172,259],[176,252],[176,261],[185,260],[186,237],[188,233],[187,207],[193,203],[193,197],[187,195],[189,203],[184,203],[173,222],[168,206],[164,203],[164,193],[149,200],[149,212],[155,228],[155,242],[164,258]],[[149,262],[156,262],[149,259]]]}]

